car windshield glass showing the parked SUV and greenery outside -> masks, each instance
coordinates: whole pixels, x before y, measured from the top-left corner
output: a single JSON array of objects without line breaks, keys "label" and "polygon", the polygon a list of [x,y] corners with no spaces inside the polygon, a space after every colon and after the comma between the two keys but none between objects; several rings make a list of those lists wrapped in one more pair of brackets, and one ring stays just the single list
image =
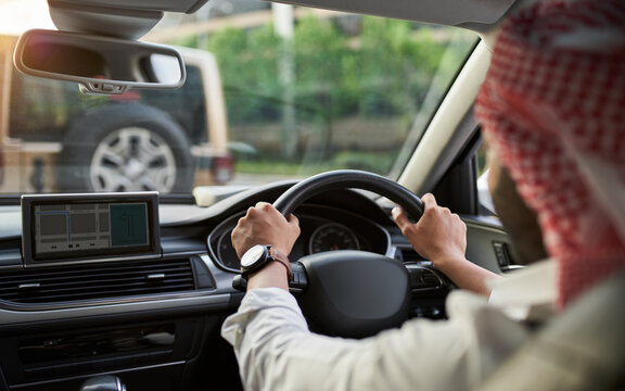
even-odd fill
[{"label": "car windshield glass showing the parked SUV and greenery outside", "polygon": [[209,1],[143,38],[180,50],[183,87],[97,97],[12,66],[10,13],[50,28],[46,8],[0,0],[12,18],[0,24],[11,27],[0,31],[3,193],[191,193],[337,168],[396,178],[476,41],[405,21]]}]

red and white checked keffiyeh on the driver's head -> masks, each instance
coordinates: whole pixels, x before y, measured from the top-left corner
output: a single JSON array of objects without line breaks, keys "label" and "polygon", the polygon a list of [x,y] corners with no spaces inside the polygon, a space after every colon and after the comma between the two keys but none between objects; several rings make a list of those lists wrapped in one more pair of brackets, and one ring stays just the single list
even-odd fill
[{"label": "red and white checked keffiyeh on the driver's head", "polygon": [[559,304],[625,266],[625,1],[512,16],[475,112],[538,215]]}]

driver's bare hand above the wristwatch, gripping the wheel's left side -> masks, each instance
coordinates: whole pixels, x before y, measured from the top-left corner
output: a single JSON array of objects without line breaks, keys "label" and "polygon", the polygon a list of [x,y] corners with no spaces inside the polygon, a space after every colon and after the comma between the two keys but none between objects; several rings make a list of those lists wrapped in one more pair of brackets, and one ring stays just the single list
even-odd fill
[{"label": "driver's bare hand above the wristwatch, gripping the wheel's left side", "polygon": [[298,236],[297,217],[290,215],[286,219],[273,205],[258,202],[247,210],[245,217],[239,219],[232,231],[232,245],[239,258],[256,244],[271,244],[282,254],[289,255]]}]

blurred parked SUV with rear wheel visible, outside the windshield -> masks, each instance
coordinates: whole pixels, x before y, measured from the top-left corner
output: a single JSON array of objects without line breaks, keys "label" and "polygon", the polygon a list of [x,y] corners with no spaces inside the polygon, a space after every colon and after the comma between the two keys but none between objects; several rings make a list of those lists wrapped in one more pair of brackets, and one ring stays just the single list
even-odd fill
[{"label": "blurred parked SUV with rear wheel visible, outside the windshield", "polygon": [[76,84],[15,71],[16,40],[0,36],[1,192],[189,192],[231,178],[211,53],[177,48],[187,66],[178,90],[85,96]]}]

